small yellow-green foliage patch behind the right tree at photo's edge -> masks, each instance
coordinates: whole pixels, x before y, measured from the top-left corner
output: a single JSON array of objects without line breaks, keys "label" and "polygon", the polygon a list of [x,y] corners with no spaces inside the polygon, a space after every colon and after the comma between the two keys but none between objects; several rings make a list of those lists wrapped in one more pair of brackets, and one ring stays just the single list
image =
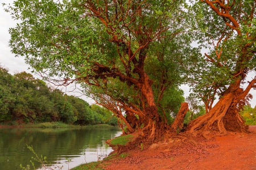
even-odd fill
[{"label": "small yellow-green foliage patch behind the right tree at photo's edge", "polygon": [[246,125],[256,125],[256,107],[251,108],[250,105],[245,105],[240,114],[245,119]]}]

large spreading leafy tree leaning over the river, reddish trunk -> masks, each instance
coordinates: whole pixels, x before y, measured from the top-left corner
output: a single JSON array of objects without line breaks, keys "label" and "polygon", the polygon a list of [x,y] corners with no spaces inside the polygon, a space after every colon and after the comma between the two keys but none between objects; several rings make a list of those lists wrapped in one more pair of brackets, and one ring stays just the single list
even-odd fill
[{"label": "large spreading leafy tree leaning over the river, reddish trunk", "polygon": [[144,125],[154,141],[167,124],[161,101],[181,83],[182,57],[192,53],[186,7],[184,1],[18,0],[6,8],[22,20],[10,29],[10,46],[47,80],[84,83],[131,131],[131,124]]}]

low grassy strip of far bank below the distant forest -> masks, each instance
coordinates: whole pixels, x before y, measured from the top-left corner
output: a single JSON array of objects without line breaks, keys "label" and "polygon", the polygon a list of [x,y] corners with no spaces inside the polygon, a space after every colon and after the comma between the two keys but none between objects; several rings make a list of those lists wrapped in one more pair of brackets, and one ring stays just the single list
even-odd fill
[{"label": "low grassy strip of far bank below the distant forest", "polygon": [[39,124],[19,124],[19,125],[5,125],[0,124],[0,128],[118,128],[107,124],[98,125],[69,125],[63,122],[43,122]]}]

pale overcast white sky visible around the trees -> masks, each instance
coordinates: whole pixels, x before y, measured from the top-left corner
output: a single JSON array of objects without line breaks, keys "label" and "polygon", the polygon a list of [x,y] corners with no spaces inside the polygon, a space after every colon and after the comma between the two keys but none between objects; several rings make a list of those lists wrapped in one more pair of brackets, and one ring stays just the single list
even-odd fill
[{"label": "pale overcast white sky visible around the trees", "polygon": [[[15,27],[16,21],[14,21],[10,14],[5,12],[2,6],[2,3],[12,3],[13,0],[0,0],[0,63],[2,66],[5,66],[9,69],[10,74],[14,74],[17,72],[26,71],[30,73],[31,70],[28,70],[28,65],[24,62],[24,58],[22,57],[15,57],[14,54],[11,53],[11,48],[8,46],[10,35],[9,35],[9,28]],[[35,78],[39,78],[38,76],[34,75]],[[252,78],[254,74],[250,74],[247,78]],[[246,86],[244,85],[243,88]],[[184,91],[184,97],[187,97],[189,92],[189,87],[185,84],[181,85],[180,88]],[[65,87],[62,88],[65,92]],[[67,94],[78,96],[87,101],[89,104],[93,104],[94,100],[89,99],[86,96],[81,96],[79,92],[71,92],[73,90],[72,86],[67,88]],[[256,90],[251,90],[250,94],[253,95],[254,99],[250,101],[251,107],[254,107],[256,104]]]}]

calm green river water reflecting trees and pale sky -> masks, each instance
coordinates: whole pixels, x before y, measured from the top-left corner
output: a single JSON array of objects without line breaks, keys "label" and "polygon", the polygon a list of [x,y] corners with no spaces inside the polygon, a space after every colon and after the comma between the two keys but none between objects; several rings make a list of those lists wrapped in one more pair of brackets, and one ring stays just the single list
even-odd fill
[{"label": "calm green river water reflecting trees and pale sky", "polygon": [[[47,156],[48,166],[64,166],[62,170],[103,159],[112,148],[105,141],[121,135],[118,128],[2,128],[0,129],[0,169],[21,169],[31,164],[33,146],[39,156]],[[98,158],[97,158],[98,157]],[[67,159],[71,159],[70,162]],[[42,166],[35,163],[36,169]],[[58,168],[57,168],[58,169]]]}]

